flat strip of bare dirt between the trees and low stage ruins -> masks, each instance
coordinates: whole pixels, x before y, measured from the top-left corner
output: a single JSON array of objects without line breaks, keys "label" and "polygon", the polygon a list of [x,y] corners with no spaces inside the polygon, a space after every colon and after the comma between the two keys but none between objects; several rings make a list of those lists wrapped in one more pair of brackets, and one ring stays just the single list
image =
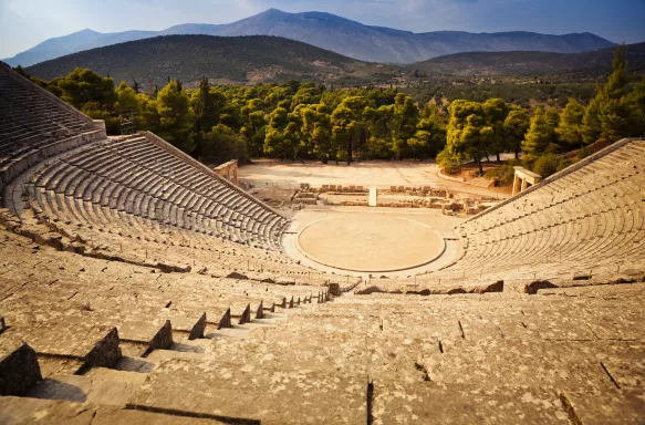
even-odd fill
[{"label": "flat strip of bare dirt between the trees and low stage ruins", "polygon": [[509,197],[499,188],[482,188],[459,182],[446,180],[437,176],[439,167],[434,160],[374,160],[345,164],[321,164],[308,160],[302,163],[280,162],[278,159],[254,159],[241,166],[238,176],[256,188],[270,186],[298,188],[301,183],[314,187],[322,185],[360,186],[431,186],[464,193],[469,196],[488,196],[500,199]]}]

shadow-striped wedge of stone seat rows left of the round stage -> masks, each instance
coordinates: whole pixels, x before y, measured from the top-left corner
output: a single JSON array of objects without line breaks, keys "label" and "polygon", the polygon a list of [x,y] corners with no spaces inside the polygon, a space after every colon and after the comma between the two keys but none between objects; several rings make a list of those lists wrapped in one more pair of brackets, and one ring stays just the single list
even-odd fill
[{"label": "shadow-striped wedge of stone seat rows left of the round stage", "polygon": [[[155,164],[141,163],[141,155],[150,151],[175,162],[173,174],[155,168]],[[62,205],[83,199],[166,225],[206,234],[223,232],[219,236],[240,243],[280,250],[279,235],[287,225],[283,218],[147,143],[145,137],[94,143],[58,159],[34,176],[33,186],[73,200],[40,205],[43,210],[55,211]],[[174,180],[170,175],[178,178]],[[43,198],[40,194],[37,198],[43,201],[54,197]],[[70,217],[73,221],[89,218],[82,214]]]}]

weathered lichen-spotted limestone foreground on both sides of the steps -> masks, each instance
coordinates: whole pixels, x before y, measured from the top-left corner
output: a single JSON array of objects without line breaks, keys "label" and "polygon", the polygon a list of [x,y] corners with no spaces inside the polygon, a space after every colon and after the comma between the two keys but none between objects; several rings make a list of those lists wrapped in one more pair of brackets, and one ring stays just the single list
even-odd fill
[{"label": "weathered lichen-spotted limestone foreground on both sides of the steps", "polygon": [[[320,300],[321,291],[312,293],[312,287],[158,274],[53,248],[31,253],[32,247],[24,239],[10,239],[0,248],[10,266],[3,269],[8,286],[0,302],[10,328],[0,340],[22,329],[50,351],[53,340],[41,340],[37,328],[30,328],[34,323],[52,332],[54,323],[61,330],[87,330],[112,318],[119,338],[123,330],[133,341],[145,342],[145,349],[162,329],[157,320],[164,309],[181,314],[186,307],[191,314],[197,311],[193,305],[208,305],[219,294],[223,300],[248,294],[247,304],[262,292],[275,301],[308,294]],[[11,262],[12,256],[21,262]],[[35,263],[39,276],[24,279],[25,268]],[[97,286],[105,277],[110,283]],[[125,376],[102,367],[81,376],[50,369],[30,396],[76,396],[71,401],[138,406],[164,417],[178,412],[263,423],[363,424],[371,414],[374,423],[384,424],[424,423],[426,416],[446,423],[523,418],[556,424],[570,417],[571,407],[561,396],[569,394],[568,403],[583,424],[610,422],[604,418],[611,412],[638,423],[645,407],[639,396],[644,293],[643,283],[550,288],[534,294],[507,292],[506,286],[503,292],[481,294],[344,293],[332,302],[267,310],[267,318],[230,329],[207,322],[210,340],[190,341],[179,333],[178,342],[153,350],[147,359],[127,357],[114,365],[118,372],[124,364],[141,364],[135,367],[139,372],[123,372]],[[135,299],[138,309],[128,301]],[[146,319],[143,312],[148,311]],[[281,311],[290,313],[283,317]],[[240,307],[233,315],[241,313]],[[150,325],[138,326],[139,321]],[[137,330],[141,336],[132,336]],[[90,340],[93,334],[87,333]],[[63,346],[73,341],[63,335],[58,352],[65,353]],[[81,345],[79,352],[94,344]],[[593,394],[593,403],[575,398],[582,390]]]}]

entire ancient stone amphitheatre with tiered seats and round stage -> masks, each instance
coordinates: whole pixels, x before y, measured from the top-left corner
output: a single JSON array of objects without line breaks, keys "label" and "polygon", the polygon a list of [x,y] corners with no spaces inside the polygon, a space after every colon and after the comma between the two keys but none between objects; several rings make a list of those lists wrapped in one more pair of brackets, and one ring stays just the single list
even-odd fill
[{"label": "entire ancient stone amphitheatre with tiered seats and round stage", "polygon": [[644,142],[368,207],[0,93],[1,423],[645,422]]}]

